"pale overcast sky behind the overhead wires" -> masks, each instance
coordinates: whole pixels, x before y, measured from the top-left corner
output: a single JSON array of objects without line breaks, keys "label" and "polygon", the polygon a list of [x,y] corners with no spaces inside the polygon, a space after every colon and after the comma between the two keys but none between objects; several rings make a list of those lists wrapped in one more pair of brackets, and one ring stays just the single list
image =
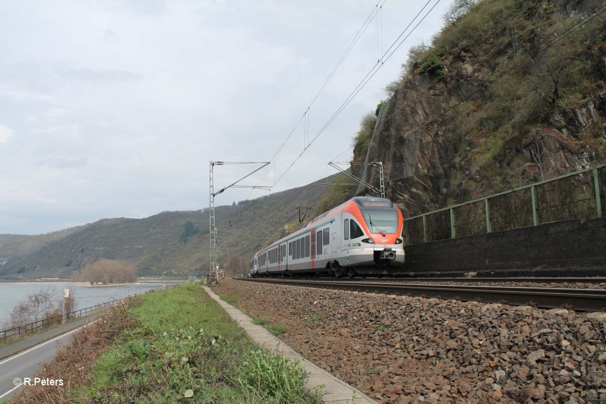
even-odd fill
[{"label": "pale overcast sky behind the overhead wires", "polygon": [[[282,176],[424,5],[386,0],[313,101],[376,4],[0,2],[0,233],[206,208],[209,161],[270,161],[293,128],[272,164],[242,184],[273,192],[336,173],[328,162],[351,159],[360,119],[385,98],[408,49],[439,30],[450,1]],[[216,167],[215,187],[256,167]],[[215,203],[266,192],[231,189]]]}]

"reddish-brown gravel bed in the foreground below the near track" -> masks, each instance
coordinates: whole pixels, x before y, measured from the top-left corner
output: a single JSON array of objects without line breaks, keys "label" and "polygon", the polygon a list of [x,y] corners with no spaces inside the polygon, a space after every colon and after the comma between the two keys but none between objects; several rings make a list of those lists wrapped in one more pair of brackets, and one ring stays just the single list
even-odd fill
[{"label": "reddish-brown gravel bed in the foreground below the near track", "polygon": [[606,403],[604,313],[230,279],[216,292],[381,403]]}]

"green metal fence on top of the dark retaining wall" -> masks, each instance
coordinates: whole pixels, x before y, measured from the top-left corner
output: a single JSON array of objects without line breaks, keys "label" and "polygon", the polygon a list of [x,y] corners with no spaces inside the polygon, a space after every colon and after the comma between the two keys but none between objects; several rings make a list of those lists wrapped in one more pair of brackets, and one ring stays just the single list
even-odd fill
[{"label": "green metal fence on top of the dark retaining wall", "polygon": [[408,244],[604,215],[606,164],[471,200],[404,221]]}]

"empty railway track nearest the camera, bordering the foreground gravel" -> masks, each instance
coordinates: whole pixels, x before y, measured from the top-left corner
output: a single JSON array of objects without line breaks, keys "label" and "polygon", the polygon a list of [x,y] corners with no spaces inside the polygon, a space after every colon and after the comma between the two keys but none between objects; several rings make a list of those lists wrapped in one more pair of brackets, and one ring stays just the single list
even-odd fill
[{"label": "empty railway track nearest the camera, bordering the foreground gravel", "polygon": [[[606,311],[606,290],[602,289],[436,285],[356,281],[341,282],[338,280],[235,279],[246,282],[276,283],[279,285],[307,286],[370,293],[410,294],[411,296],[461,299],[465,301],[477,300],[485,303],[536,305],[542,308],[566,307],[574,308],[574,310],[578,311]],[[435,279],[432,280],[432,282],[434,281]],[[519,281],[520,279],[518,278],[518,282]],[[526,281],[526,279],[524,279],[524,281]],[[470,279],[468,279],[467,282],[470,282]],[[494,282],[494,279],[492,282]]]}]

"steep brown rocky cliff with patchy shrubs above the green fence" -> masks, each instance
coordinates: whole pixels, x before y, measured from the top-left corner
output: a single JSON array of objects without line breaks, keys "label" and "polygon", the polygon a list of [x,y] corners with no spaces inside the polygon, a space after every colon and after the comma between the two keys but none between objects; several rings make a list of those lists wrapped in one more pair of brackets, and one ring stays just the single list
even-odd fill
[{"label": "steep brown rocky cliff with patchy shrubs above the green fence", "polygon": [[[606,161],[606,22],[586,2],[501,3],[444,28],[378,114],[365,160],[409,216]],[[465,36],[490,18],[483,44]]]}]

